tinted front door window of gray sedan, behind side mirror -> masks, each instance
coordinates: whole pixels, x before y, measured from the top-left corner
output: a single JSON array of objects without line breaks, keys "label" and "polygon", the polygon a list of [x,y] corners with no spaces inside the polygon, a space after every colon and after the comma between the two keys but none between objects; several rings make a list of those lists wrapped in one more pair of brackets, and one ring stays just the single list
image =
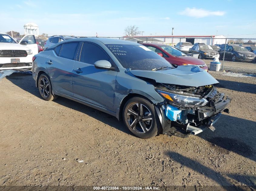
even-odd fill
[{"label": "tinted front door window of gray sedan, behind side mirror", "polygon": [[94,64],[98,60],[111,62],[109,56],[100,47],[91,43],[83,43],[79,61]]}]

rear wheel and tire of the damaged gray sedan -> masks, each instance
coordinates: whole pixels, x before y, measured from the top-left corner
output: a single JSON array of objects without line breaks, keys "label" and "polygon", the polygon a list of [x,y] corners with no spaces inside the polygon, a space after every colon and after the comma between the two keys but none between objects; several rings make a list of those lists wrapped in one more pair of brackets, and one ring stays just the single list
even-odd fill
[{"label": "rear wheel and tire of the damaged gray sedan", "polygon": [[52,101],[58,97],[52,94],[52,84],[48,75],[41,74],[37,83],[39,93],[43,99],[46,101]]}]

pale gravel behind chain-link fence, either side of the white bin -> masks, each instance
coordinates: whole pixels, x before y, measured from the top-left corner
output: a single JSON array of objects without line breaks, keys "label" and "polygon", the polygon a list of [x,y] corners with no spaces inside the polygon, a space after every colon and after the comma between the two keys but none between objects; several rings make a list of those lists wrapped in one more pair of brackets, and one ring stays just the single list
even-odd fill
[{"label": "pale gravel behind chain-link fence, either side of the white bin", "polygon": [[[203,61],[207,64],[207,66],[210,68],[210,62],[212,62],[212,59],[203,59]],[[221,64],[223,61],[220,61]],[[232,71],[232,72],[244,72],[244,73],[254,73],[256,74],[256,63],[251,62],[230,62],[230,61],[224,61],[223,70],[226,71]]]}]

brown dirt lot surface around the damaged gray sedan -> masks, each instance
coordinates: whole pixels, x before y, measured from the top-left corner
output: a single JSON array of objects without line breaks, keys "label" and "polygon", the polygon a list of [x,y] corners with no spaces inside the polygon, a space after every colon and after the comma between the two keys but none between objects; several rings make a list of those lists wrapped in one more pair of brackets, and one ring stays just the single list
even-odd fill
[{"label": "brown dirt lot surface around the damaged gray sedan", "polygon": [[220,82],[219,91],[232,99],[216,130],[147,140],[98,110],[62,97],[42,100],[30,75],[3,78],[0,185],[256,189],[256,78],[210,73]]}]

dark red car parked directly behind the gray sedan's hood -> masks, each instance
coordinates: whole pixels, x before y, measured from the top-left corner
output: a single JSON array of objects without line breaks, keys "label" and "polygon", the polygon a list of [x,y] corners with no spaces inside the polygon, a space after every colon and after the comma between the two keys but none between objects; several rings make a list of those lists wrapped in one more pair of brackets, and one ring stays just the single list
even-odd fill
[{"label": "dark red car parked directly behind the gray sedan's hood", "polygon": [[142,45],[148,47],[148,49],[158,53],[163,56],[168,62],[175,65],[198,65],[200,68],[208,72],[208,67],[204,61],[188,56],[187,54],[181,52],[180,50],[165,44],[160,43],[141,43]]}]

